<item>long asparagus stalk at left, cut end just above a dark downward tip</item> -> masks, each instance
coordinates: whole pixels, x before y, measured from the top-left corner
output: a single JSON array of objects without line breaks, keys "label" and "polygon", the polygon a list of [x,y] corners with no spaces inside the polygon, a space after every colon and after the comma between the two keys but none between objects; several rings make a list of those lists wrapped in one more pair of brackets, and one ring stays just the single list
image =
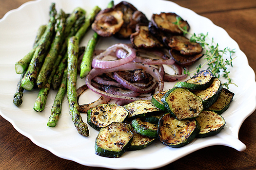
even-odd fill
[{"label": "long asparagus stalk at left, cut end just above a dark downward tip", "polygon": [[42,65],[45,55],[47,54],[48,47],[51,44],[52,35],[54,33],[54,25],[56,23],[55,17],[55,3],[52,3],[50,7],[50,19],[47,24],[47,28],[39,41],[39,46],[36,48],[25,76],[21,81],[21,86],[26,90],[32,90],[35,85],[39,69]]}]

